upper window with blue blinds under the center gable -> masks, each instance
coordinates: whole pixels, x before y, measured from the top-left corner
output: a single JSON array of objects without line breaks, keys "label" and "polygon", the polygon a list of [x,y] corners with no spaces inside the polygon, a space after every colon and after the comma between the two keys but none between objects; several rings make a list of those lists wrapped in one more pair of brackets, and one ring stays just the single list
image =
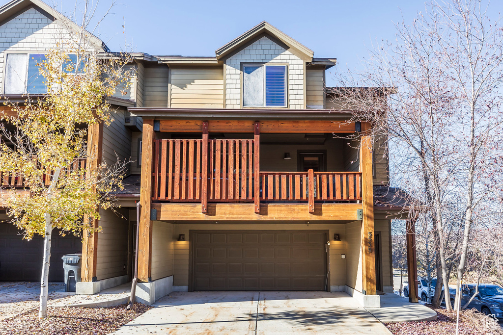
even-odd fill
[{"label": "upper window with blue blinds under the center gable", "polygon": [[244,65],[243,106],[286,107],[286,65]]}]

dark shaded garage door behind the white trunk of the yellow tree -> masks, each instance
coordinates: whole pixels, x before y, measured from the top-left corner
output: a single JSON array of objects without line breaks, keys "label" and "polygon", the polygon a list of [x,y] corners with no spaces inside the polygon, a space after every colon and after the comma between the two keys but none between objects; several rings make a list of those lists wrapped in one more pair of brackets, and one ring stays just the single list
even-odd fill
[{"label": "dark shaded garage door behind the white trunk of the yellow tree", "polygon": [[[0,280],[39,281],[42,274],[44,240],[35,236],[23,240],[12,224],[0,223]],[[62,281],[64,277],[61,256],[82,252],[80,238],[59,236],[54,230],[51,239],[49,280]]]}]

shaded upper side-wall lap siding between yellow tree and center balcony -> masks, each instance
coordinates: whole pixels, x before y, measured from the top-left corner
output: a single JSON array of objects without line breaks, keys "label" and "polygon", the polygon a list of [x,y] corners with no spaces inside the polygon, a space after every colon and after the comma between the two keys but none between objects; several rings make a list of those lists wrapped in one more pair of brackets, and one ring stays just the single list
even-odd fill
[{"label": "shaded upper side-wall lap siding between yellow tree and center balcony", "polygon": [[103,129],[103,160],[107,164],[117,163],[116,153],[122,162],[131,158],[131,131],[124,125],[124,109],[112,111],[111,118],[113,121]]}]

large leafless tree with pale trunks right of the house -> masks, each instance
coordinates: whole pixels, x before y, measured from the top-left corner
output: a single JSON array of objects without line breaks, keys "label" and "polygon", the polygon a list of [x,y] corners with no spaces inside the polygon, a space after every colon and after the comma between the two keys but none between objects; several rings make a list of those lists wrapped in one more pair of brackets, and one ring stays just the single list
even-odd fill
[{"label": "large leafless tree with pale trunks right of the house", "polygon": [[[374,139],[390,139],[394,183],[430,216],[439,264],[434,304],[441,283],[448,292],[452,266],[459,290],[470,233],[500,187],[503,33],[486,10],[481,0],[430,4],[410,25],[397,25],[396,41],[371,50],[363,73],[339,75],[334,98],[361,111],[354,121],[371,123]],[[452,309],[450,299],[446,305]]]}]

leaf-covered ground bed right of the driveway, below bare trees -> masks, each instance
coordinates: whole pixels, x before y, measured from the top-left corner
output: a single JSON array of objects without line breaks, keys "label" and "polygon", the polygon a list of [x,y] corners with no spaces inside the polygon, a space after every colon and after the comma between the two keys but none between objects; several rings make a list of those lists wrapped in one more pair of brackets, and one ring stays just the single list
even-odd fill
[{"label": "leaf-covered ground bed right of the driveway, below bare trees", "polygon": [[[456,313],[445,309],[435,309],[435,321],[385,323],[395,335],[448,335],[456,333]],[[459,333],[462,335],[503,335],[503,328],[492,318],[473,309],[461,312]]]}]

